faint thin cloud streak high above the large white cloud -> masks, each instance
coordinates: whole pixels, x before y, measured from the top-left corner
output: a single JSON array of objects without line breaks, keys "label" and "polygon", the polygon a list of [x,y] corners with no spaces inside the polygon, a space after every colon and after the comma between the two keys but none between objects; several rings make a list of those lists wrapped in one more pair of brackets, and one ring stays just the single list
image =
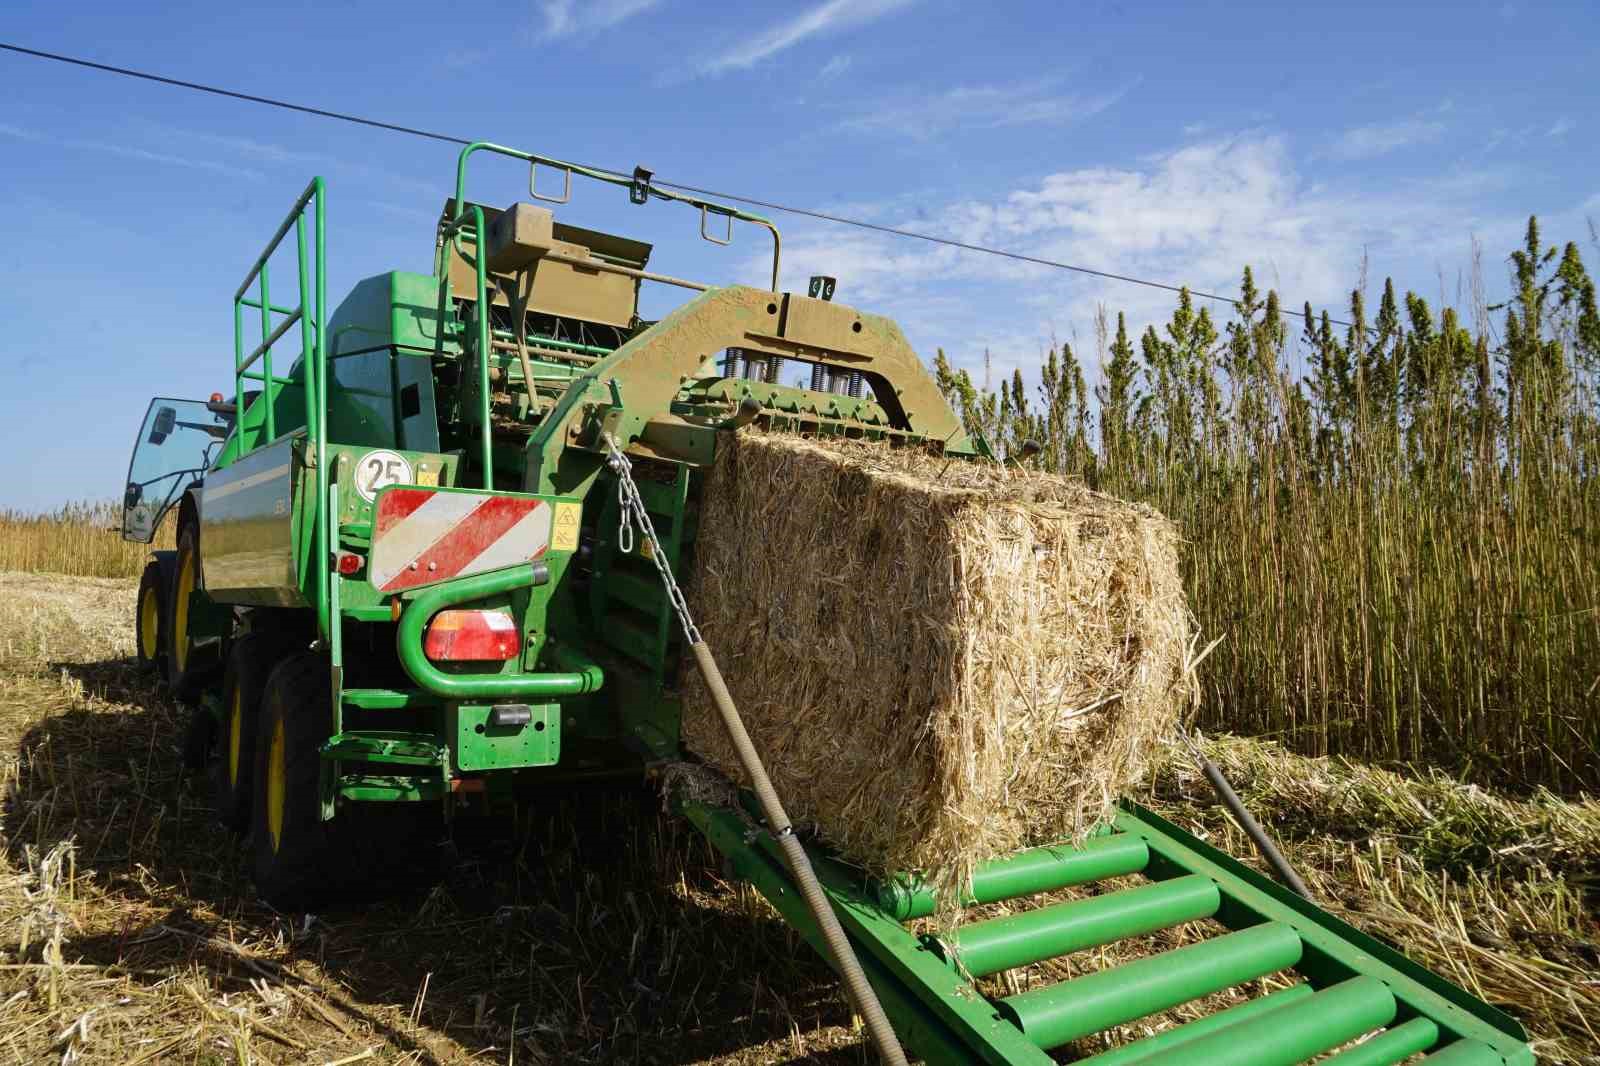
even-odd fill
[{"label": "faint thin cloud streak high above the large white cloud", "polygon": [[1138,80],[1096,94],[1059,93],[1058,85],[1056,80],[962,85],[942,93],[891,101],[851,115],[838,126],[853,133],[933,138],[955,128],[1061,125],[1090,118],[1112,107],[1138,85]]}]

